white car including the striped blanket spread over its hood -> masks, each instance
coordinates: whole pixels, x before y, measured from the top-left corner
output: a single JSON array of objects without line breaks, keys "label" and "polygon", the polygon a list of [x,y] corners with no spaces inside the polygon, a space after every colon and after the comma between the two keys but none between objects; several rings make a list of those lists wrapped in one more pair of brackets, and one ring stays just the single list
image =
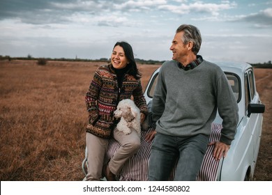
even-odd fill
[{"label": "white car including the striped blanket spread over its hood", "polygon": [[[213,146],[207,148],[197,180],[252,180],[262,135],[262,113],[264,113],[265,109],[256,90],[254,71],[248,63],[216,62],[216,64],[225,72],[229,84],[232,86],[239,106],[239,123],[227,157],[216,161],[212,157]],[[147,103],[151,103],[153,98],[159,70],[160,68],[153,72],[144,91]],[[217,115],[212,124],[210,141],[220,138],[221,128],[222,118]],[[148,163],[152,143],[146,141],[144,137],[152,130],[154,129],[150,128],[146,132],[142,131],[141,147],[137,154],[133,155],[124,164],[117,179],[148,180]],[[119,147],[120,144],[117,141],[114,139],[109,140],[109,149],[105,156],[105,163]],[[85,175],[87,166],[85,151],[85,159],[82,162],[82,170]],[[174,172],[175,169],[173,169],[169,180],[172,180],[174,177]]]}]

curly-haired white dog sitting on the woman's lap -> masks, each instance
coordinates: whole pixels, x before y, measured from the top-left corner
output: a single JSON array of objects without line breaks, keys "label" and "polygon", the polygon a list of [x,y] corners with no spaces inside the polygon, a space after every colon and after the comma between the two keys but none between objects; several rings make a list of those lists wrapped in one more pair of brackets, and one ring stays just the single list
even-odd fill
[{"label": "curly-haired white dog sitting on the woman's lap", "polygon": [[133,100],[121,100],[114,111],[115,118],[121,118],[117,124],[117,129],[124,134],[130,134],[132,127],[136,132],[141,134],[141,119],[139,115],[139,108],[135,105]]}]

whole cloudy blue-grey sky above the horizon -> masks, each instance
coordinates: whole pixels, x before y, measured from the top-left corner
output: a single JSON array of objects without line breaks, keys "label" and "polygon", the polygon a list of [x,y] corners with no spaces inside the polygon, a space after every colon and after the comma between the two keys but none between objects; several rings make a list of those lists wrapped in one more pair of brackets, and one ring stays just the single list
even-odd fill
[{"label": "whole cloudy blue-grey sky above the horizon", "polygon": [[199,28],[204,59],[272,60],[272,0],[0,0],[0,55],[109,58],[126,40],[164,61],[180,24]]}]

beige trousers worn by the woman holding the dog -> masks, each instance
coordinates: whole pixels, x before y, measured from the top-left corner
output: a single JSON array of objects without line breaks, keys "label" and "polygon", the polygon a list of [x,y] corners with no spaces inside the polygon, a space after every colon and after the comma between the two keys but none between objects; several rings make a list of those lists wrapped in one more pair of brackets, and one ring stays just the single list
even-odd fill
[{"label": "beige trousers worn by the woman holding the dog", "polygon": [[[116,151],[112,159],[109,160],[109,170],[116,175],[121,171],[123,164],[137,153],[137,150],[141,145],[141,138],[133,129],[131,129],[131,133],[127,135],[115,129],[114,139],[121,144],[121,147]],[[102,178],[104,157],[105,153],[107,153],[108,143],[109,139],[103,139],[93,134],[86,133],[88,162],[86,180],[100,180],[100,178]]]}]

